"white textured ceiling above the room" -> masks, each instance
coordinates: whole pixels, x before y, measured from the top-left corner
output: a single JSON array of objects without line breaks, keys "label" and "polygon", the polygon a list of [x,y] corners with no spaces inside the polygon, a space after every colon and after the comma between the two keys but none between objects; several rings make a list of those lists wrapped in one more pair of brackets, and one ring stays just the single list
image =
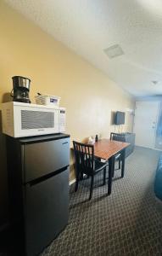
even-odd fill
[{"label": "white textured ceiling above the room", "polygon": [[[162,0],[5,2],[132,95],[162,94]],[[120,44],[125,55],[109,59],[103,49],[114,44]]]}]

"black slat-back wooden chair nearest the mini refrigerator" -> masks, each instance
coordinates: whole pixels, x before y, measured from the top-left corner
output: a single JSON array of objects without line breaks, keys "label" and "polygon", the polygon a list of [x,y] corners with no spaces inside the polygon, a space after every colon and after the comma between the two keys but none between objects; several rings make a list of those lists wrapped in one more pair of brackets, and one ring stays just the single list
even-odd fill
[{"label": "black slat-back wooden chair nearest the mini refrigerator", "polygon": [[75,153],[75,171],[76,171],[76,183],[75,183],[75,192],[78,189],[78,183],[83,174],[86,174],[87,177],[91,177],[91,187],[89,200],[92,198],[92,189],[94,176],[103,171],[103,185],[106,180],[106,166],[107,163],[98,161],[94,157],[94,146],[90,144],[77,143],[73,141],[74,153]]}]

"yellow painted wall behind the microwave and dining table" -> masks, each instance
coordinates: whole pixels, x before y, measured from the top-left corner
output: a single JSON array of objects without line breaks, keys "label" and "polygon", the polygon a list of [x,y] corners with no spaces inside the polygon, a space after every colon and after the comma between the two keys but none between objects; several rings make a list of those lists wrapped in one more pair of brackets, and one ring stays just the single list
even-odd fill
[{"label": "yellow painted wall behind the microwave and dining table", "polygon": [[[36,92],[61,96],[67,108],[67,133],[71,140],[100,133],[109,137],[111,112],[134,108],[134,101],[107,75],[43,32],[31,21],[0,3],[0,102],[12,89],[12,76],[31,79],[31,101]],[[131,116],[126,113],[126,131]],[[3,137],[1,136],[0,143]],[[7,176],[1,143],[0,208],[6,208]],[[2,166],[3,163],[3,166]],[[71,177],[72,178],[72,177]],[[5,187],[5,188],[4,188]],[[5,215],[6,212],[3,211]],[[0,213],[1,214],[1,213]],[[0,216],[1,218],[1,216]]]}]

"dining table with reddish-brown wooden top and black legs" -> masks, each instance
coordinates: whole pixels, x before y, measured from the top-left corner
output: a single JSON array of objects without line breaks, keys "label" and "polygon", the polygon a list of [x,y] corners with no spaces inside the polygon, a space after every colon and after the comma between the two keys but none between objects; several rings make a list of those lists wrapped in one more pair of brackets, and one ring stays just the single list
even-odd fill
[{"label": "dining table with reddish-brown wooden top and black legs", "polygon": [[108,195],[111,194],[112,177],[115,168],[115,155],[121,154],[121,177],[124,177],[125,172],[125,149],[130,143],[123,143],[119,141],[101,139],[94,143],[94,155],[99,159],[109,161],[109,182],[108,182]]}]

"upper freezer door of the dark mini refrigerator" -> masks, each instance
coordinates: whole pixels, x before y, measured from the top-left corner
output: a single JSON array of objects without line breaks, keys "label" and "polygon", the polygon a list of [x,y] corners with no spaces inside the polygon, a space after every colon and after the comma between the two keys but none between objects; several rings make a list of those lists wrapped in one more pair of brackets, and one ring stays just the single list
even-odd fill
[{"label": "upper freezer door of the dark mini refrigerator", "polygon": [[25,144],[24,183],[69,166],[70,139]]}]

